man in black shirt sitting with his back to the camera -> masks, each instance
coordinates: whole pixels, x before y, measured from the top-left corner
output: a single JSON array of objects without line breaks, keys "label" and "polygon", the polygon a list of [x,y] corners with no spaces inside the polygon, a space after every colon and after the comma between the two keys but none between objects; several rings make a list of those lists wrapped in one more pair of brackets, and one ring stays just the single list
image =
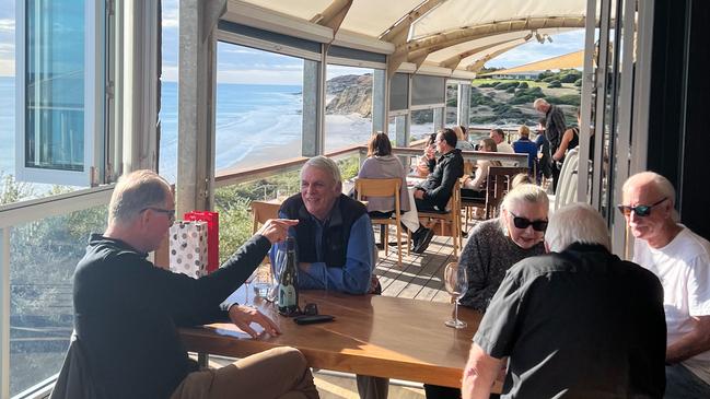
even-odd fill
[{"label": "man in black shirt sitting with his back to the camera", "polygon": [[509,357],[503,395],[521,398],[661,398],[665,321],[659,279],[609,251],[587,204],[559,209],[549,255],[507,273],[474,337],[463,397],[488,398]]}]

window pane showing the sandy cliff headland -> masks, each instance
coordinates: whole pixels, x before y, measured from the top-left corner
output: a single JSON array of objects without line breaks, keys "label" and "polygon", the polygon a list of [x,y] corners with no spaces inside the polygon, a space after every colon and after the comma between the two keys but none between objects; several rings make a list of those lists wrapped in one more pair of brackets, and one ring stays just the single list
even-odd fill
[{"label": "window pane showing the sandy cliff headland", "polygon": [[328,64],[325,152],[364,145],[372,136],[373,70]]}]

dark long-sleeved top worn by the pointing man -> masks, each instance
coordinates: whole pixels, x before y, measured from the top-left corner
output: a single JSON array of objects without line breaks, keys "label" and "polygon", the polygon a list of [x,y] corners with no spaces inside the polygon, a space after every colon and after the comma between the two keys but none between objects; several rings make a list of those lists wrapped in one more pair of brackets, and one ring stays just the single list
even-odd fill
[{"label": "dark long-sleeved top worn by the pointing man", "polygon": [[226,320],[220,304],[270,248],[257,236],[200,279],[156,268],[126,243],[93,234],[74,272],[74,327],[108,398],[168,398],[197,369],[177,327]]}]

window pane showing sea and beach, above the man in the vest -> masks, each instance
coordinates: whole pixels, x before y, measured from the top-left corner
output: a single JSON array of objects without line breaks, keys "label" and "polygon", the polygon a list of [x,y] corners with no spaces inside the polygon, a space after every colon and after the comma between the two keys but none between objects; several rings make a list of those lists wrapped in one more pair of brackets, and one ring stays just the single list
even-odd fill
[{"label": "window pane showing sea and beach, above the man in the vest", "polygon": [[303,59],[218,43],[214,169],[301,156]]}]

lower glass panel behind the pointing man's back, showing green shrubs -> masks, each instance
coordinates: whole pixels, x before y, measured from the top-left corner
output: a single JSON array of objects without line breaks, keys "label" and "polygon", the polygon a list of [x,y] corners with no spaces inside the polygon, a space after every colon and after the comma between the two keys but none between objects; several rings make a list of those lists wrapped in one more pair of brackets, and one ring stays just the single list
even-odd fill
[{"label": "lower glass panel behind the pointing man's back, showing green shrubs", "polygon": [[72,274],[106,206],[16,225],[10,238],[10,395],[61,368],[73,328]]}]

